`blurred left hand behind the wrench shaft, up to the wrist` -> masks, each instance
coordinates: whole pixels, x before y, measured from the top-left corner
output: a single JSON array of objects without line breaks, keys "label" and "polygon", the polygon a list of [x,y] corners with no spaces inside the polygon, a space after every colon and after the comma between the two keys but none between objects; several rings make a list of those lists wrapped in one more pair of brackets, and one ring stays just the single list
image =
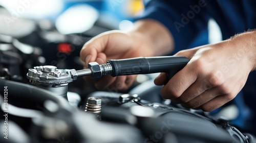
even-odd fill
[{"label": "blurred left hand behind the wrench shaft, up to the wrist", "polygon": [[[123,59],[133,57],[153,56],[153,50],[141,39],[135,38],[130,33],[111,31],[98,35],[84,44],[80,57],[82,61],[88,63],[96,61],[99,64],[106,63],[109,59]],[[95,82],[98,89],[116,87],[117,89],[127,89],[135,80],[136,75],[111,77],[104,76]]]}]

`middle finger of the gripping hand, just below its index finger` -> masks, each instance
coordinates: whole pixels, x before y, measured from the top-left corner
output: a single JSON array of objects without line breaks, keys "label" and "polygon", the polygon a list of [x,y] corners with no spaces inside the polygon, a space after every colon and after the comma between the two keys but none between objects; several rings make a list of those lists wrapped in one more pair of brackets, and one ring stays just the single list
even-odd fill
[{"label": "middle finger of the gripping hand, just below its index finger", "polygon": [[196,82],[191,84],[182,94],[179,98],[175,99],[179,103],[187,103],[188,101],[196,98],[206,90],[212,88],[211,85],[208,84],[206,80],[203,80],[202,78],[198,78]]}]

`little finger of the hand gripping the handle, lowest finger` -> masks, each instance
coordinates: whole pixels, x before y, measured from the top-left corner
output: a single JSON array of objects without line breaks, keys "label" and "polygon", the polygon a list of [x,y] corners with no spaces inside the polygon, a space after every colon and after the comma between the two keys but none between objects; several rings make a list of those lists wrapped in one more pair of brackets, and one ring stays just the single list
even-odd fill
[{"label": "little finger of the hand gripping the handle, lowest finger", "polygon": [[231,101],[233,98],[230,98],[230,97],[231,96],[228,96],[228,95],[218,96],[218,97],[210,100],[209,102],[199,106],[198,109],[202,109],[206,112],[215,110],[215,109],[221,107],[222,105],[224,105],[225,103]]}]

